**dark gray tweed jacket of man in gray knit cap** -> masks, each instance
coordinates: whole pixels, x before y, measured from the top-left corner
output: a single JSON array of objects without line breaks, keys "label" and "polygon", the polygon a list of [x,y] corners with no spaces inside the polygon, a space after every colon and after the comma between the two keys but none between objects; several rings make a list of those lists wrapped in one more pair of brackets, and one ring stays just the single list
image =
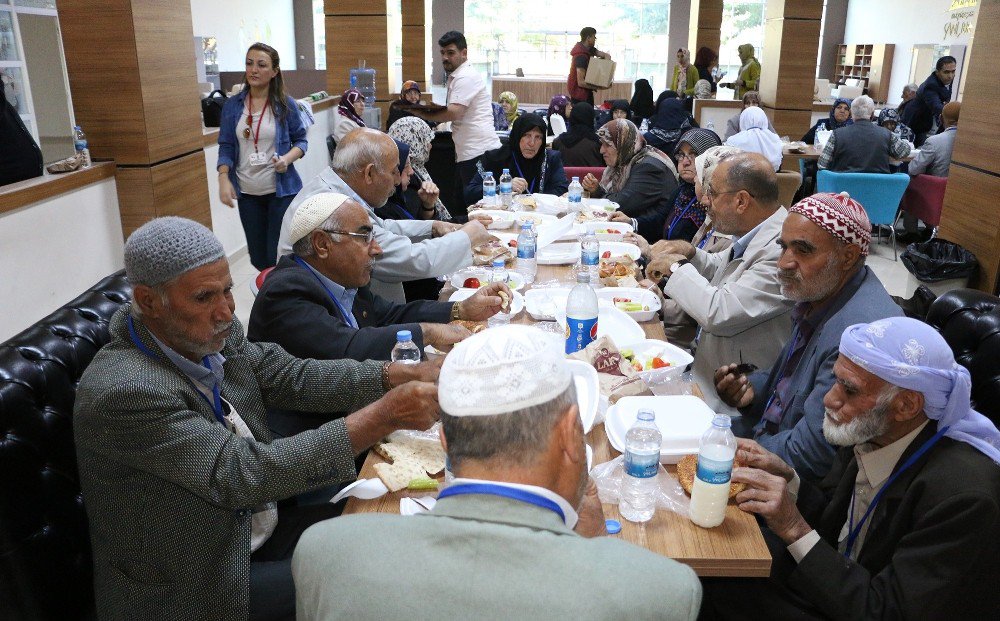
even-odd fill
[{"label": "dark gray tweed jacket of man in gray knit cap", "polygon": [[[265,407],[355,410],[383,394],[381,363],[299,360],[233,320],[222,397],[256,441],[212,408],[125,305],[77,390],[73,431],[90,522],[98,618],[248,616],[251,509],[356,477],[343,419],[272,441]],[[279,516],[280,520],[280,516]]]}]

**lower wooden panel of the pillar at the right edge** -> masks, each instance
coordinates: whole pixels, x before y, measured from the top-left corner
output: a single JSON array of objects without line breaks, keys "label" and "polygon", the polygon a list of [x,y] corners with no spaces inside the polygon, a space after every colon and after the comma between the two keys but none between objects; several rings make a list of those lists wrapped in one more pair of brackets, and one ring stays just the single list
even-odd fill
[{"label": "lower wooden panel of the pillar at the right edge", "polygon": [[[977,37],[983,31],[977,31]],[[978,52],[977,52],[978,53]],[[980,58],[982,58],[980,56]],[[985,63],[984,63],[985,65]],[[970,75],[971,78],[971,75]],[[968,96],[968,90],[966,90]],[[962,111],[964,115],[964,110]],[[964,116],[962,119],[964,120]],[[961,130],[959,130],[961,136]],[[957,139],[956,139],[957,141]],[[957,144],[956,144],[957,148]],[[952,160],[938,237],[960,244],[979,260],[970,286],[996,294],[1000,285],[1000,177],[956,165]]]}]

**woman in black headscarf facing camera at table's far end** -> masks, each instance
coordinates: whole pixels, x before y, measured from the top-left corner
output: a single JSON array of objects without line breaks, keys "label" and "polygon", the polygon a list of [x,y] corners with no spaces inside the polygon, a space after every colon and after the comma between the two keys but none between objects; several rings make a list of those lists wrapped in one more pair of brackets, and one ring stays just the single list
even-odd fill
[{"label": "woman in black headscarf facing camera at table's far end", "polygon": [[546,129],[545,121],[537,114],[517,117],[507,144],[483,153],[476,162],[476,174],[465,186],[465,200],[469,204],[479,202],[483,198],[483,173],[492,172],[499,182],[504,168],[514,178],[515,194],[565,194],[569,182],[562,156],[545,148]]}]

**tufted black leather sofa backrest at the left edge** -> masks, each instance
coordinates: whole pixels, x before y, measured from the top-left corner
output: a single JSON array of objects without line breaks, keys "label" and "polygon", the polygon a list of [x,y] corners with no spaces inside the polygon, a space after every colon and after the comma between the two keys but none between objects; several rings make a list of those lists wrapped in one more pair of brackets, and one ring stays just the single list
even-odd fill
[{"label": "tufted black leather sofa backrest at the left edge", "polygon": [[118,272],[0,344],[0,619],[92,615],[73,402],[130,294]]}]

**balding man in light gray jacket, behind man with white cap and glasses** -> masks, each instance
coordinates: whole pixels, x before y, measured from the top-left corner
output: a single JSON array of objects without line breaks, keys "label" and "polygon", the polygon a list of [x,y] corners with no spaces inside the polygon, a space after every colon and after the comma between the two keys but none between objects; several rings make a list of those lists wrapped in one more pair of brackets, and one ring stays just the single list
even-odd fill
[{"label": "balding man in light gray jacket, behind man with white cap and glasses", "polygon": [[402,283],[472,265],[472,249],[490,238],[478,221],[459,226],[438,220],[383,220],[375,215],[399,183],[398,163],[399,149],[387,134],[369,128],[347,134],[337,145],[330,167],[303,186],[285,211],[278,257],[292,252],[292,217],[299,205],[314,194],[338,192],[361,203],[375,226],[382,256],[372,272],[372,293],[404,303]]}]

